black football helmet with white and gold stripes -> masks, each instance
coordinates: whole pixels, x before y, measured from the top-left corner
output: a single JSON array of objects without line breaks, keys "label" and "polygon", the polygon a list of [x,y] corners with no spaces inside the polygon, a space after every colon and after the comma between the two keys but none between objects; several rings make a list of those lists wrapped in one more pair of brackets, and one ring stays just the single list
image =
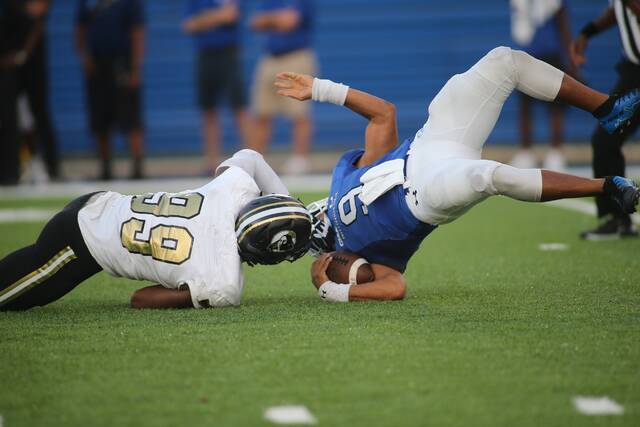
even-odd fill
[{"label": "black football helmet with white and gold stripes", "polygon": [[309,249],[310,236],[309,211],[283,194],[253,199],[236,219],[240,257],[249,265],[293,262]]}]

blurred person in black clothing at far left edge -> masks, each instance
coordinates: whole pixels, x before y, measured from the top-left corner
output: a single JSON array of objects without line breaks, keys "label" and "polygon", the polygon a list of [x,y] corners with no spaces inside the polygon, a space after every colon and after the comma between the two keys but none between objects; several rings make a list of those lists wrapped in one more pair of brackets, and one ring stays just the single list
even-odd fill
[{"label": "blurred person in black clothing at far left edge", "polygon": [[24,94],[33,119],[31,154],[41,151],[49,177],[58,178],[58,148],[49,114],[45,0],[0,1],[0,157],[4,184],[20,173],[18,99]]}]

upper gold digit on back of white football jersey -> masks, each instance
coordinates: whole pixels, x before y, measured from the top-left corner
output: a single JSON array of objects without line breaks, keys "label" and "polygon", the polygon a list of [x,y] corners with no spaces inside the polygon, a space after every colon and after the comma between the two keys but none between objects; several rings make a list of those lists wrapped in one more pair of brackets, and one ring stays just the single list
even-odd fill
[{"label": "upper gold digit on back of white football jersey", "polygon": [[190,219],[200,214],[204,196],[200,193],[150,193],[131,198],[131,210],[158,217]]}]

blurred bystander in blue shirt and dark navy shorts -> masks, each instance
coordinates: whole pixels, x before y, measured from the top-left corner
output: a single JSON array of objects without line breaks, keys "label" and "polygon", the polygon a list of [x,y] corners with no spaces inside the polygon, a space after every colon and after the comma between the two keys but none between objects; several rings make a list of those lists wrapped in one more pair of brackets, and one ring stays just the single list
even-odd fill
[{"label": "blurred bystander in blue shirt and dark navy shorts", "polygon": [[182,29],[193,37],[197,51],[196,92],[202,111],[202,135],[207,174],[220,161],[222,126],[218,102],[225,95],[233,110],[242,145],[251,126],[240,62],[240,10],[237,0],[186,0]]}]

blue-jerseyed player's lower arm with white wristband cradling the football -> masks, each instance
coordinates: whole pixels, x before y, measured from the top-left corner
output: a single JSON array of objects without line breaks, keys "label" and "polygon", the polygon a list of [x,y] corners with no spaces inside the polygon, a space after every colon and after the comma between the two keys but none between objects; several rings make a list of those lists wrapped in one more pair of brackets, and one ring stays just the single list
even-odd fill
[{"label": "blue-jerseyed player's lower arm with white wristband cradling the football", "polygon": [[[326,273],[330,262],[331,254],[325,253],[320,255],[311,266],[311,281],[316,289],[320,289],[322,285],[330,282]],[[371,268],[375,277],[374,281],[361,285],[352,285],[349,288],[348,296],[345,295],[345,299],[333,299],[333,301],[390,301],[404,299],[407,292],[407,284],[402,273],[382,264],[371,264]],[[348,285],[339,284],[337,286],[344,286],[346,290]],[[329,300],[331,301],[332,299],[329,298]]]}]

